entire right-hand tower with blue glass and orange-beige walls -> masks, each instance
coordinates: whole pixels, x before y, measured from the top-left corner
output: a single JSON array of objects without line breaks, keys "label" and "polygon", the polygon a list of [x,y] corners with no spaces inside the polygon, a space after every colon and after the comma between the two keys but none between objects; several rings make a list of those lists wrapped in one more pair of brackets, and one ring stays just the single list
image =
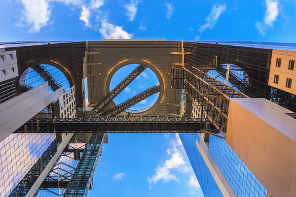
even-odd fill
[{"label": "entire right-hand tower with blue glass and orange-beige walls", "polygon": [[184,116],[212,116],[222,122],[213,129],[227,130],[226,140],[179,134],[204,195],[296,196],[296,45],[202,41],[184,42],[184,51],[185,80],[196,88],[184,87]]}]

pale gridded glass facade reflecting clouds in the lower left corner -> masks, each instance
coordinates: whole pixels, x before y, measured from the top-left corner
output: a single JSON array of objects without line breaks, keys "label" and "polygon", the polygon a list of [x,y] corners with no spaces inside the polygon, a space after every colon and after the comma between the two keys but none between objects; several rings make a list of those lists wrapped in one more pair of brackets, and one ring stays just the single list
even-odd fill
[{"label": "pale gridded glass facade reflecting clouds in the lower left corner", "polygon": [[52,133],[12,133],[0,142],[0,197],[7,197],[55,139]]}]

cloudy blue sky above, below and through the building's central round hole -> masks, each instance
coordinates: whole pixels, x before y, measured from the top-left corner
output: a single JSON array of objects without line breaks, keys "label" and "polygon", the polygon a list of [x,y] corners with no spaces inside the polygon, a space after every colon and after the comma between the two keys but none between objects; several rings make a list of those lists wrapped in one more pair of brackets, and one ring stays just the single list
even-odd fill
[{"label": "cloudy blue sky above, below and through the building's central round hole", "polygon": [[[296,0],[1,0],[0,41],[296,42],[295,10]],[[152,74],[144,73],[145,88],[155,85]],[[136,79],[118,102],[143,91],[141,85]],[[178,136],[163,133],[110,134],[89,192],[89,197],[100,195],[203,196]]]}]

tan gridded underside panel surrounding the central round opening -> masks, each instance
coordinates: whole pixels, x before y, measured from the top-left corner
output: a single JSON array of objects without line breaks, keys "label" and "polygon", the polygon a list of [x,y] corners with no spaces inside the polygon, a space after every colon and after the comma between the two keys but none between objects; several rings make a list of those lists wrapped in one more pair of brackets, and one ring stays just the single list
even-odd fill
[{"label": "tan gridded underside panel surrounding the central round opening", "polygon": [[[91,104],[100,102],[109,93],[111,77],[120,67],[141,64],[155,72],[161,90],[155,105],[139,115],[167,116],[167,112],[180,114],[180,107],[168,105],[167,102],[179,104],[181,100],[180,91],[170,87],[169,75],[170,63],[182,61],[181,55],[170,54],[170,52],[181,52],[181,41],[88,41],[87,52],[101,52],[100,55],[87,55],[88,101]],[[96,63],[101,65],[92,65]],[[110,102],[102,112],[112,107],[115,107],[114,102]]]}]

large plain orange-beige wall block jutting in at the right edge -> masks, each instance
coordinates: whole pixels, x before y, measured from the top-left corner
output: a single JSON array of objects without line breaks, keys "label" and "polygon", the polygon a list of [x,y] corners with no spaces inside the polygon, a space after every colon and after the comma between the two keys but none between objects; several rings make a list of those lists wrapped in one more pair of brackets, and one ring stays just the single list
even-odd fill
[{"label": "large plain orange-beige wall block jutting in at the right edge", "polygon": [[266,99],[231,99],[226,142],[272,197],[296,196],[296,119]]}]

